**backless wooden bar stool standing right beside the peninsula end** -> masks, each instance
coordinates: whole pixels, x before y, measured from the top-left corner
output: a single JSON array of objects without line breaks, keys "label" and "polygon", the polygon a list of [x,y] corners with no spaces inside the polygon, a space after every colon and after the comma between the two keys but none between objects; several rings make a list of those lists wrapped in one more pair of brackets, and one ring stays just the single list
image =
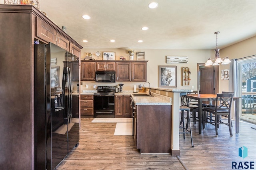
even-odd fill
[{"label": "backless wooden bar stool standing right beside the peninsula end", "polygon": [[[191,121],[190,121],[190,108],[187,106],[180,106],[180,111],[181,111],[181,121],[180,123],[183,122],[183,127],[180,127],[183,129],[182,132],[180,132],[180,134],[183,134],[183,139],[185,139],[185,133],[190,133],[190,137],[191,137],[191,145],[192,147],[194,147],[193,145],[193,139],[192,139],[192,131],[191,131]],[[184,111],[187,111],[187,117],[185,118],[184,116]],[[184,119],[187,119],[187,122],[189,121],[189,130],[185,127],[185,121]]]}]

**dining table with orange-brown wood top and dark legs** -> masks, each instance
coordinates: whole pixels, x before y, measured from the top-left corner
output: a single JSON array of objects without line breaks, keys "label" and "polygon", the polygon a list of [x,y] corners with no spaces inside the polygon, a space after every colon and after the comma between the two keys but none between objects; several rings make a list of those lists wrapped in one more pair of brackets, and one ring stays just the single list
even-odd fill
[{"label": "dining table with orange-brown wood top and dark legs", "polygon": [[[215,101],[217,94],[187,94],[189,99],[198,101],[198,130],[199,134],[202,133],[202,104],[203,101]],[[239,133],[239,106],[240,106],[240,98],[234,97],[233,101],[235,102],[235,125],[236,125],[236,133]],[[203,127],[205,128],[205,127]]]}]

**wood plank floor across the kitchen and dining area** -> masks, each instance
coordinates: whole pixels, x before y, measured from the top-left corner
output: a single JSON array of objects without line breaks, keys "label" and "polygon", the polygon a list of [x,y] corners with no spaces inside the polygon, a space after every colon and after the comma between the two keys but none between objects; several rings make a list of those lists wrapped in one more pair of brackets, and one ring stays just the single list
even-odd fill
[{"label": "wood plank floor across the kitchen and dining area", "polygon": [[[92,118],[81,119],[80,144],[62,161],[56,170],[230,170],[232,161],[256,160],[256,125],[240,122],[240,133],[230,137],[228,126],[220,125],[215,137],[213,125],[198,134],[192,125],[194,148],[190,135],[184,140],[180,134],[180,160],[169,154],[140,154],[132,136],[114,136],[116,123],[91,123]],[[233,123],[235,125],[235,123]],[[248,148],[248,156],[238,156],[238,148]]]}]

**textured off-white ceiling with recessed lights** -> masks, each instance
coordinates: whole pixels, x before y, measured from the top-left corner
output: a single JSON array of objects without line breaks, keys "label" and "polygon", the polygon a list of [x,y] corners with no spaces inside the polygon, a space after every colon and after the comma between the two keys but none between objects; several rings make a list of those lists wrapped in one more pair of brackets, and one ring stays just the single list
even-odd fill
[{"label": "textured off-white ceiling with recessed lights", "polygon": [[[152,0],[38,2],[85,49],[215,49],[216,31],[219,48],[256,35],[256,0],[154,0],[156,9],[147,7]],[[84,20],[84,14],[91,19]],[[142,31],[143,26],[149,29]]]}]

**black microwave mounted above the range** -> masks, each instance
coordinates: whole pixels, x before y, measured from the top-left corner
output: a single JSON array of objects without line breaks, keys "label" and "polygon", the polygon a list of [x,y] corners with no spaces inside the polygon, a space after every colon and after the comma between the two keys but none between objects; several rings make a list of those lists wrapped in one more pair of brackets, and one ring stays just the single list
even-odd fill
[{"label": "black microwave mounted above the range", "polygon": [[96,82],[116,82],[116,72],[115,71],[96,71],[95,72]]}]

